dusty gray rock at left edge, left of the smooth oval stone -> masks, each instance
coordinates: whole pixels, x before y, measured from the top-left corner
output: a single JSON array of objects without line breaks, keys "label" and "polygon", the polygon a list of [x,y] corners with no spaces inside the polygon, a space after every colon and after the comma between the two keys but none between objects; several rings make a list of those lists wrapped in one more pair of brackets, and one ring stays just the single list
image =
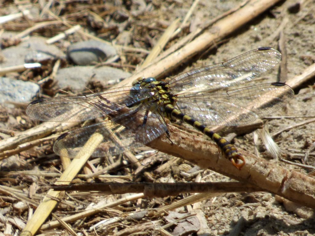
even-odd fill
[{"label": "dusty gray rock at left edge, left of the smooth oval stone", "polygon": [[21,65],[24,63],[41,62],[56,57],[64,57],[56,46],[45,43],[44,37],[31,37],[29,40],[21,42],[17,46],[12,46],[2,50],[4,57],[1,67]]}]

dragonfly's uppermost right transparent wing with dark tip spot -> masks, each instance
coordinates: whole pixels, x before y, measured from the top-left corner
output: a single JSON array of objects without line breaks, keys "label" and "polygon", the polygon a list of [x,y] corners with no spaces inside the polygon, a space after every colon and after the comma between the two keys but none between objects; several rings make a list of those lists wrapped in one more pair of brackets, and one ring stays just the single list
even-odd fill
[{"label": "dragonfly's uppermost right transparent wing with dark tip spot", "polygon": [[180,74],[169,86],[174,93],[231,87],[253,80],[277,65],[280,59],[281,54],[274,48],[257,48],[225,62]]}]

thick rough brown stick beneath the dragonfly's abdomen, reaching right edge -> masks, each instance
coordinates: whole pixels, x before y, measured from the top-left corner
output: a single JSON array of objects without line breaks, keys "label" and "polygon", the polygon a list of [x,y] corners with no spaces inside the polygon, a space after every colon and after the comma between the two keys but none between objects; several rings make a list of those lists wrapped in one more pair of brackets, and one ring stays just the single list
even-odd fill
[{"label": "thick rough brown stick beneath the dragonfly's abdomen, reaching right edge", "polygon": [[315,208],[315,179],[296,171],[286,170],[238,148],[246,160],[246,164],[239,171],[229,160],[222,157],[215,143],[171,125],[169,134],[169,138],[163,135],[148,146],[188,160],[201,168],[251,183],[301,205]]}]

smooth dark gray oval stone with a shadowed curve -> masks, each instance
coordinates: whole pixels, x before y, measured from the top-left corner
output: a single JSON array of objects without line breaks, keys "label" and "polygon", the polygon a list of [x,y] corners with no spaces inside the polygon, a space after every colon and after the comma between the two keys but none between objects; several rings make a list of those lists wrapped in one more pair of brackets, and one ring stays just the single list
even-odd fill
[{"label": "smooth dark gray oval stone with a shadowed curve", "polygon": [[77,65],[91,65],[116,55],[111,45],[96,40],[77,42],[68,47],[67,56]]}]

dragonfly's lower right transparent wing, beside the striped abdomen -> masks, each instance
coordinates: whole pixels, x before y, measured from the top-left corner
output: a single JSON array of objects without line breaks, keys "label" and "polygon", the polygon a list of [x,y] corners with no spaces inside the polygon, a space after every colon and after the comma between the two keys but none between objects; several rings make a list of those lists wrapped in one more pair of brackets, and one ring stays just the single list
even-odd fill
[{"label": "dragonfly's lower right transparent wing, beside the striped abdomen", "polygon": [[227,91],[185,93],[176,102],[181,112],[205,125],[235,126],[278,110],[293,98],[284,83],[269,83]]}]

